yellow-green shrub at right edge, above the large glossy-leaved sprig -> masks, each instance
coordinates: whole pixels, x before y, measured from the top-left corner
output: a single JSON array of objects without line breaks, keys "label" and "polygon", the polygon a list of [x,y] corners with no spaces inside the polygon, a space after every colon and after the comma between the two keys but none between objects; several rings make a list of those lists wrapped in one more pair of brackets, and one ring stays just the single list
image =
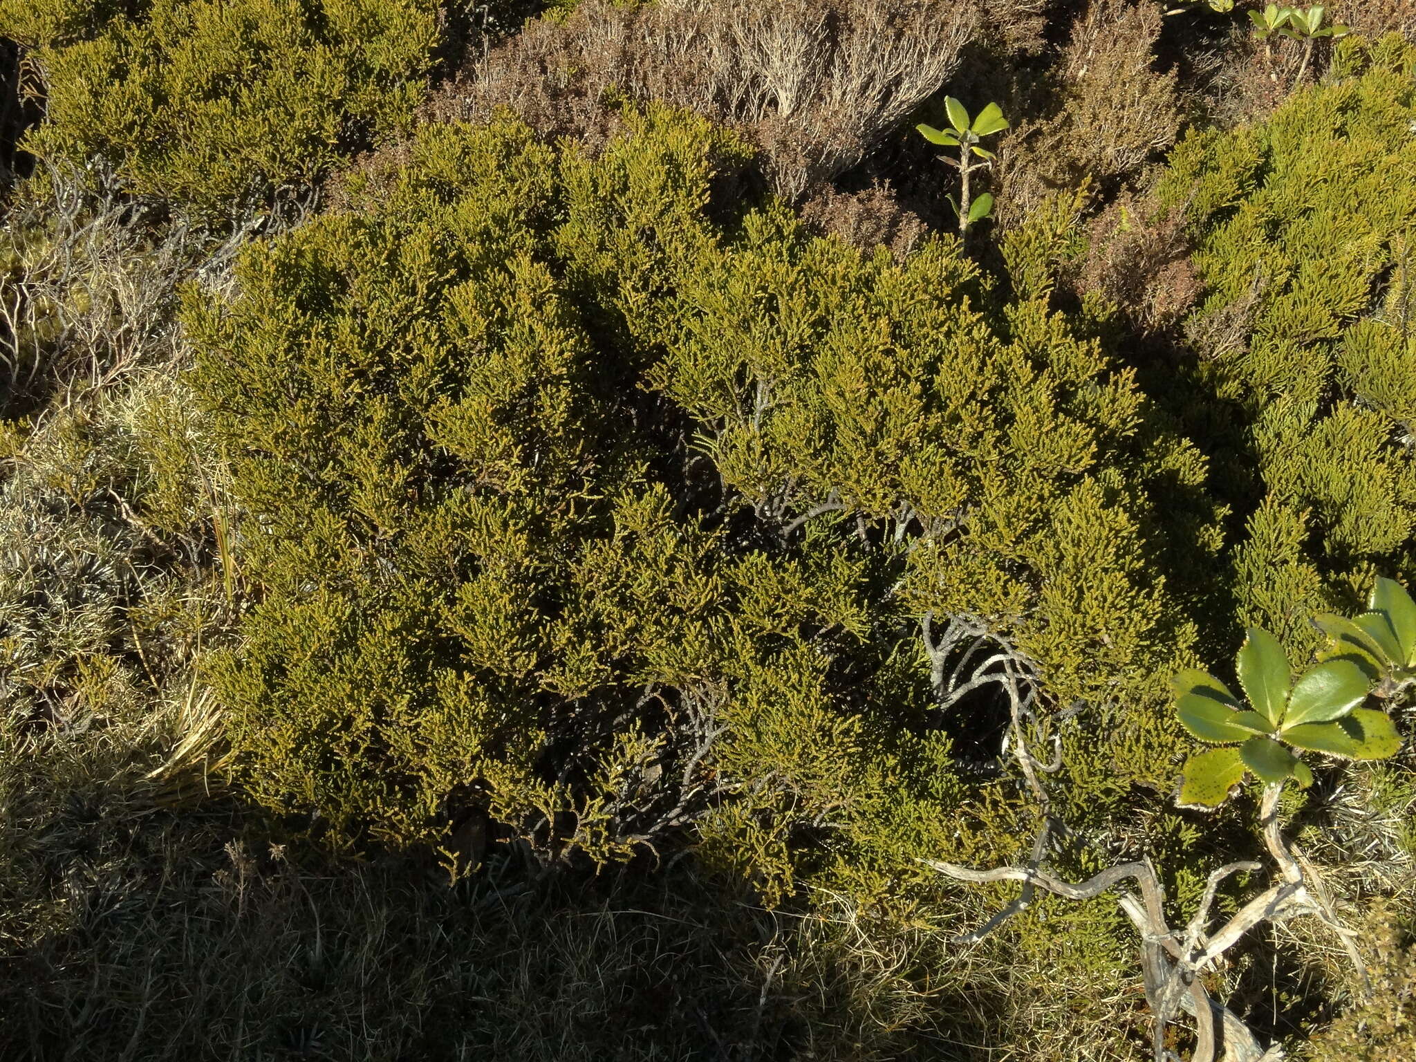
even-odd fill
[{"label": "yellow-green shrub at right edge, above the large glossy-leaved sprig", "polygon": [[1344,41],[1330,79],[1272,118],[1187,139],[1160,188],[1198,242],[1197,401],[1233,411],[1208,442],[1249,518],[1240,617],[1304,654],[1308,616],[1412,564],[1412,68],[1396,38]]}]

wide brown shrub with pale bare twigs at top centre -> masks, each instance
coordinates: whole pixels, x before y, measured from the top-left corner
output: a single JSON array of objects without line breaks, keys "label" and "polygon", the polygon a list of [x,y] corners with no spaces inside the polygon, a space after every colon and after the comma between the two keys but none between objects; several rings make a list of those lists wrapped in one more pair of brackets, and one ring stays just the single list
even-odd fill
[{"label": "wide brown shrub with pale bare twigs at top centre", "polygon": [[[799,200],[855,166],[937,92],[984,24],[1035,34],[1038,0],[588,0],[470,64],[442,119],[510,106],[531,126],[603,143],[623,99],[691,108],[743,130],[773,191]],[[1032,28],[1029,28],[1032,27]]]}]

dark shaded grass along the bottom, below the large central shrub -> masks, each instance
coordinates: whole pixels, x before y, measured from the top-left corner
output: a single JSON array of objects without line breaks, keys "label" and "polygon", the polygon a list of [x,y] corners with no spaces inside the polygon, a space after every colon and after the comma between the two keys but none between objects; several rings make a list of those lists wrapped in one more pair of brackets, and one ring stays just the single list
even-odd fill
[{"label": "dark shaded grass along the bottom, below the large central shrub", "polygon": [[498,895],[419,864],[296,861],[219,801],[86,810],[52,841],[55,919],[0,930],[8,1058],[773,1058],[811,1017],[756,967],[773,919],[683,871]]}]

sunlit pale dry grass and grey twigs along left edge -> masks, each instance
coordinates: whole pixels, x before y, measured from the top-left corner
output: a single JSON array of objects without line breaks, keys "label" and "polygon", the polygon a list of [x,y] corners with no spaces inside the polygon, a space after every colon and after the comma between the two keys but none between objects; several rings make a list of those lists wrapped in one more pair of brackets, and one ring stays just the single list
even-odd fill
[{"label": "sunlit pale dry grass and grey twigs along left edge", "polygon": [[180,378],[174,310],[178,285],[218,278],[229,251],[62,170],[4,219],[6,412],[24,413],[0,433],[17,741],[191,700],[202,636],[229,602],[215,590],[224,474]]}]

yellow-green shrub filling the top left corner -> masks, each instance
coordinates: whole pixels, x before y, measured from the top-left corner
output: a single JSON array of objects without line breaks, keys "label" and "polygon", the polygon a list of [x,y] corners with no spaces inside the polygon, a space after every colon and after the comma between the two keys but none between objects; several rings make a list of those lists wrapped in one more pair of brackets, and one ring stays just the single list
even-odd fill
[{"label": "yellow-green shrub filling the top left corner", "polygon": [[221,215],[303,191],[406,127],[436,44],[433,0],[0,0],[34,50],[45,122],[23,147]]}]

